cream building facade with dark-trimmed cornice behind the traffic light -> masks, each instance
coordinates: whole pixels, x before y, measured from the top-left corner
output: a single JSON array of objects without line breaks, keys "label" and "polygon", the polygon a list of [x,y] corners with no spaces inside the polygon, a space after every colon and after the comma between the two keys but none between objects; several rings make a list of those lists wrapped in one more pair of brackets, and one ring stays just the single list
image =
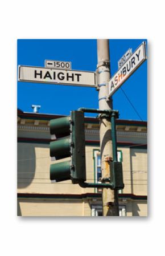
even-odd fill
[{"label": "cream building facade with dark-trimmed cornice behind the traffic light", "polygon": [[[101,189],[50,180],[50,120],[18,110],[18,216],[102,216]],[[147,123],[117,120],[118,161],[125,187],[119,216],[147,216]],[[100,182],[99,124],[85,117],[86,182]]]}]

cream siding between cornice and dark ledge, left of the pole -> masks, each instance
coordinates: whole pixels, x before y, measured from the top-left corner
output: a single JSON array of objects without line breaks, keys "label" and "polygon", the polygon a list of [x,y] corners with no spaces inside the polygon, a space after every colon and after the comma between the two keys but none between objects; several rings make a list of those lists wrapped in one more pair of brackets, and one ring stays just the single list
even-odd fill
[{"label": "cream siding between cornice and dark ledge, left of the pole", "polygon": [[[86,147],[87,181],[94,181],[92,147]],[[65,159],[68,160],[69,158]],[[60,162],[62,160],[58,160]],[[94,192],[81,188],[71,180],[52,183],[50,180],[50,149],[48,144],[18,143],[18,193],[82,194]]]}]

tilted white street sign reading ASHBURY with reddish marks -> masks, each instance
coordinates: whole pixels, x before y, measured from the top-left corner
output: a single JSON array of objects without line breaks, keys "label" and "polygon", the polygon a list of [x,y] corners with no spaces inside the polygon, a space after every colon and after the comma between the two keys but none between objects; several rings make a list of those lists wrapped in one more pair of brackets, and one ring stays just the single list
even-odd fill
[{"label": "tilted white street sign reading ASHBURY with reddish marks", "polygon": [[147,59],[146,55],[146,43],[142,42],[142,44],[133,52],[130,58],[126,61],[125,64],[114,74],[113,78],[109,81],[109,92],[108,98],[114,94],[118,90],[119,87],[130,77],[135,70],[145,60]]}]

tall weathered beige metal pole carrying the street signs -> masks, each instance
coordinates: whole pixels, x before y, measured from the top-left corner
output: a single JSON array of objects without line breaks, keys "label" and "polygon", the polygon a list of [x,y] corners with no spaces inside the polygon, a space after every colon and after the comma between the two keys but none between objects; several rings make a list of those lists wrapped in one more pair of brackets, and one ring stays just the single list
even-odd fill
[{"label": "tall weathered beige metal pole carrying the street signs", "polygon": [[[97,71],[98,71],[98,104],[99,109],[112,110],[112,98],[108,96],[108,82],[110,80],[109,40],[97,40]],[[100,151],[102,178],[110,176],[110,159],[113,158],[112,135],[110,119],[102,115],[100,118]],[[102,189],[102,209],[104,216],[118,216],[117,192],[112,189]]]}]

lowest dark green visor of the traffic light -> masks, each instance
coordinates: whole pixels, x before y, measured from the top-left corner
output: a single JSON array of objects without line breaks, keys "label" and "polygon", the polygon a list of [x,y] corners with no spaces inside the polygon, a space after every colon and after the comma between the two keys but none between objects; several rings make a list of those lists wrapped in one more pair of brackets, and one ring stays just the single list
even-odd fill
[{"label": "lowest dark green visor of the traffic light", "polygon": [[50,180],[65,181],[71,179],[71,161],[58,162],[50,166]]}]

